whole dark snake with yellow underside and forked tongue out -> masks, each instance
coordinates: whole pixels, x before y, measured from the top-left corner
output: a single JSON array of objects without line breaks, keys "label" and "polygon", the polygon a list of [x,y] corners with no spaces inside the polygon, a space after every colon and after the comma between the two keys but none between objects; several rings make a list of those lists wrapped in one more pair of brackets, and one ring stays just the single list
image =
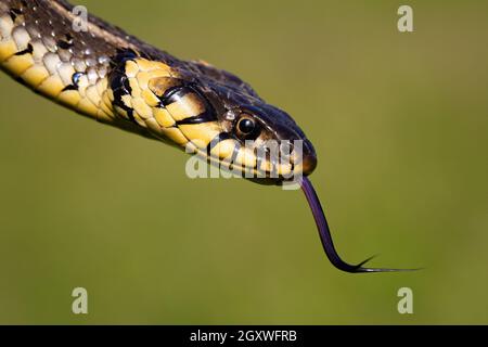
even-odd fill
[{"label": "whole dark snake with yellow underside and forked tongue out", "polygon": [[[316,150],[286,112],[237,76],[180,60],[85,10],[65,0],[1,0],[0,68],[82,116],[251,174],[243,177],[253,182],[282,185],[298,177],[333,266],[350,273],[403,270],[338,256],[308,178]],[[287,160],[269,155],[273,141],[287,149],[280,152]]]}]

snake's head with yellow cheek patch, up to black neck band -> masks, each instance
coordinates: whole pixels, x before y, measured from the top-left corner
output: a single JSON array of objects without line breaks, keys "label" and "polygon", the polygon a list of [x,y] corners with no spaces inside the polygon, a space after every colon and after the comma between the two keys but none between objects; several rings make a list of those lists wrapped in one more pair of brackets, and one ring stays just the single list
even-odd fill
[{"label": "snake's head with yellow cheek patch, up to black neck band", "polygon": [[258,183],[299,181],[313,171],[313,146],[290,115],[230,73],[181,64],[177,69],[130,55],[121,61],[111,76],[117,112],[152,136]]}]

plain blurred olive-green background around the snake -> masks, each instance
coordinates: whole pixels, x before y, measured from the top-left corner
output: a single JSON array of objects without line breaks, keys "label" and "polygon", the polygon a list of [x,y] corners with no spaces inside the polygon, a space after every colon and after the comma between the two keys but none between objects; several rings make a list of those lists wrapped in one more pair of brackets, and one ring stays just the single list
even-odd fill
[{"label": "plain blurred olive-green background around the snake", "polygon": [[426,269],[342,273],[301,192],[190,180],[184,154],[2,74],[0,323],[488,323],[486,1],[76,3],[286,110],[343,257]]}]

